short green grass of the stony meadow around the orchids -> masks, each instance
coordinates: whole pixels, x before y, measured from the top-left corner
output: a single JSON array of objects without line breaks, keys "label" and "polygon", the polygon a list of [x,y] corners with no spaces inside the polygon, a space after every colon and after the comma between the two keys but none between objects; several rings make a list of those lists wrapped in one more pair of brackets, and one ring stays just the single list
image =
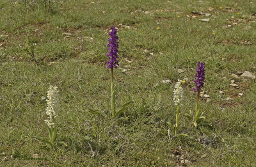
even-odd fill
[{"label": "short green grass of the stony meadow around the orchids", "polygon": [[[238,89],[229,86],[231,74],[256,72],[253,1],[68,0],[52,4],[51,11],[22,1],[3,0],[0,6],[0,162],[6,157],[0,165],[256,165],[255,79],[240,77]],[[210,21],[200,20],[205,18]],[[115,70],[117,106],[135,101],[118,120],[110,118],[105,68],[111,26],[118,28],[120,67],[127,69]],[[27,34],[35,40],[41,70],[22,51]],[[166,122],[175,122],[178,79],[188,78],[180,113],[195,109],[197,61],[205,61],[204,91],[211,102],[200,99],[200,108],[209,126],[194,129],[182,117],[180,132],[190,138],[169,138]],[[49,84],[60,90],[58,140],[68,147],[47,151],[32,137],[47,136],[41,97]],[[92,115],[88,107],[107,115]],[[204,143],[215,135],[214,142]]]}]

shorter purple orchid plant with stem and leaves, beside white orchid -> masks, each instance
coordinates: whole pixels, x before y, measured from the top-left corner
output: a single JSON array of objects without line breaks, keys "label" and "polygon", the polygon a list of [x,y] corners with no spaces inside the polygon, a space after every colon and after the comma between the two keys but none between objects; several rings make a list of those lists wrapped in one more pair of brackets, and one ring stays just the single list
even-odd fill
[{"label": "shorter purple orchid plant with stem and leaves, beside white orchid", "polygon": [[201,88],[204,86],[204,80],[205,80],[204,65],[205,65],[204,62],[200,63],[200,61],[198,61],[195,81],[194,81],[196,87],[193,88],[194,92],[196,92],[196,109],[195,109],[194,118],[192,117],[192,113],[190,113],[190,116],[184,115],[186,116],[186,118],[188,118],[188,120],[193,121],[193,124],[195,125],[195,127],[197,127],[198,124],[205,119],[205,116],[203,116],[204,112],[200,112],[200,109],[199,109],[200,91],[201,91]]}]

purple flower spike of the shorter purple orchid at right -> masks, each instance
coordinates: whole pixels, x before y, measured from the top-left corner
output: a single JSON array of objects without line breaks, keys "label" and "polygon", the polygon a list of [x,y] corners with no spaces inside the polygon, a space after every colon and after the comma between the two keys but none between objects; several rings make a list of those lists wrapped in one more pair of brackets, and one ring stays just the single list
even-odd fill
[{"label": "purple flower spike of the shorter purple orchid at right", "polygon": [[204,86],[204,79],[205,79],[205,70],[204,70],[204,62],[200,63],[200,61],[198,61],[197,64],[197,70],[196,70],[196,75],[195,75],[195,88],[193,88],[194,91],[200,91],[202,86]]}]

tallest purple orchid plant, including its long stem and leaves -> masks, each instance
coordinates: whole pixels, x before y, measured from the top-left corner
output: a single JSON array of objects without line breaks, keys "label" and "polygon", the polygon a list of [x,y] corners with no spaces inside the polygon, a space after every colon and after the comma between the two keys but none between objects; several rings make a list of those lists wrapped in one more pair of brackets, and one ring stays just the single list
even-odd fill
[{"label": "tallest purple orchid plant, including its long stem and leaves", "polygon": [[[113,83],[113,79],[114,79],[114,68],[118,67],[118,61],[117,61],[117,54],[118,54],[118,36],[116,35],[117,33],[117,29],[115,28],[115,26],[110,28],[111,31],[109,33],[110,38],[108,39],[108,53],[106,54],[106,56],[109,58],[109,61],[107,61],[107,68],[111,69],[111,111],[112,111],[112,116],[114,117],[118,117],[122,112],[125,111],[125,109],[127,109],[129,107],[129,104],[132,103],[132,101],[130,102],[125,102],[125,104],[122,105],[122,107],[120,107],[120,109],[118,109],[118,111],[116,112],[116,97],[115,97],[115,90],[114,90],[114,83]],[[90,112],[94,113],[94,114],[100,114],[99,111],[97,110],[93,110],[93,109],[89,109]]]}]

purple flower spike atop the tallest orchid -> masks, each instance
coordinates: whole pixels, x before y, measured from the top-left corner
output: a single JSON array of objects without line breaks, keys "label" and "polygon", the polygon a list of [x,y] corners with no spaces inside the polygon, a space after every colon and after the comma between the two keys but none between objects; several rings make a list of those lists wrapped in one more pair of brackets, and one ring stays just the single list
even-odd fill
[{"label": "purple flower spike atop the tallest orchid", "polygon": [[118,58],[117,54],[118,54],[118,43],[116,42],[116,40],[118,40],[118,36],[116,35],[117,29],[114,27],[110,28],[112,31],[109,33],[110,38],[108,39],[108,53],[106,54],[106,56],[109,58],[109,61],[107,61],[107,68],[117,68],[118,61],[116,60],[116,58]]}]

